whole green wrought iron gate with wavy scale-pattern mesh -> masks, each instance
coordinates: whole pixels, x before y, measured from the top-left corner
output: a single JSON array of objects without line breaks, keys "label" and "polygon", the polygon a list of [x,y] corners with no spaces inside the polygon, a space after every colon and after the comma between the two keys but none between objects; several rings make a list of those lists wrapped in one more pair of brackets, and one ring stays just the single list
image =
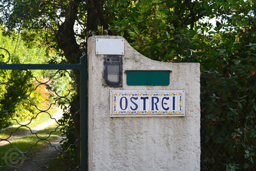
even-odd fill
[{"label": "whole green wrought iron gate with wavy scale-pattern mesh", "polygon": [[[0,49],[3,49],[3,50],[5,50],[6,52],[8,52],[8,51],[7,51],[6,49],[4,49],[4,48],[0,48]],[[9,52],[8,52],[8,55],[9,55],[9,59],[8,59],[7,62],[9,62],[9,60],[10,60],[10,53],[9,53]],[[4,56],[4,55],[0,55],[0,57],[4,58],[5,56]],[[77,164],[77,167],[76,167],[75,170],[79,170],[79,169],[80,169],[80,170],[87,170],[87,55],[83,55],[83,56],[80,58],[80,64],[7,64],[7,62],[1,62],[1,61],[0,61],[0,70],[18,70],[17,73],[16,73],[16,75],[12,75],[12,76],[10,77],[9,81],[12,80],[13,77],[17,76],[18,72],[24,71],[24,70],[27,71],[27,72],[30,74],[31,78],[35,78],[35,79],[36,79],[36,77],[33,77],[32,74],[31,74],[31,72],[30,72],[29,70],[58,70],[57,72],[59,72],[59,71],[68,72],[67,70],[80,70],[80,82],[78,82],[78,81],[73,77],[73,78],[75,79],[75,81],[76,81],[76,86],[80,86],[80,109],[77,109],[75,104],[70,104],[70,105],[74,105],[74,107],[78,110],[78,112],[77,112],[75,115],[79,115],[79,113],[80,113],[80,136],[79,136],[79,135],[76,135],[76,134],[74,133],[75,136],[77,137],[77,140],[74,142],[74,144],[75,144],[77,141],[80,141],[80,164],[77,163],[74,159],[71,159],[71,160],[73,160],[73,161],[76,162],[76,164]],[[57,72],[56,72],[56,73],[57,73]],[[55,73],[55,75],[56,75],[56,73]],[[70,76],[70,73],[69,73],[69,72],[68,72],[68,74],[69,74],[69,76]],[[38,81],[38,80],[36,79],[36,81],[39,83],[39,84],[37,85],[37,87],[40,86],[40,85],[49,86],[47,83],[51,80],[51,77],[53,77],[53,76],[50,76],[50,79],[49,79],[47,82],[40,82],[40,81]],[[70,76],[70,77],[72,77],[72,76]],[[12,87],[8,84],[9,81],[7,81],[7,82],[0,82],[0,86],[1,86],[1,85],[6,85],[6,86],[9,86],[9,87],[11,88],[11,91],[14,92],[14,93],[18,96],[18,100],[16,101],[16,104],[17,104],[17,102],[18,102],[20,99],[27,99],[27,100],[29,100],[28,98],[29,98],[29,96],[30,96],[32,90],[30,91],[30,94],[29,94],[29,95],[22,97],[22,96],[20,96],[20,95],[17,93],[17,91],[12,90]],[[76,87],[76,86],[75,86],[75,87]],[[37,87],[36,87],[36,88],[37,88]],[[49,86],[49,87],[50,87],[50,86]],[[51,89],[50,89],[50,90],[51,90]],[[66,96],[67,96],[67,95],[66,95],[66,96],[59,96],[59,95],[56,93],[55,90],[51,90],[51,91],[54,91],[54,92],[55,92],[55,94],[58,96],[58,99],[61,99],[61,98],[64,98],[64,99],[65,99]],[[70,90],[70,91],[71,91],[71,90]],[[70,91],[69,91],[69,93],[70,93]],[[57,100],[58,100],[58,99],[57,99]],[[67,99],[67,98],[66,98],[66,99]],[[57,101],[57,100],[56,100],[56,101]],[[68,99],[67,99],[67,100],[68,100]],[[30,100],[29,100],[29,101],[30,101]],[[56,103],[56,101],[55,101],[55,103]],[[13,104],[11,105],[11,108],[12,108],[13,105],[15,105],[14,102],[12,102],[12,103],[13,103]],[[31,103],[31,101],[30,101],[30,103]],[[50,109],[51,105],[53,105],[53,104],[55,104],[55,103],[51,103],[50,106],[49,106],[49,108],[48,108],[47,110],[39,110],[35,104],[32,104],[32,103],[31,103],[31,105],[35,106],[36,109],[40,111],[39,113],[41,113],[41,112],[47,112],[47,111]],[[69,103],[71,103],[71,102],[69,101]],[[10,109],[11,109],[11,108],[10,108]],[[9,109],[9,110],[10,110],[10,109]],[[1,113],[6,113],[6,114],[10,115],[10,113],[8,113],[9,110],[6,110],[6,111],[1,111],[1,110],[0,110],[0,114],[1,114]],[[39,114],[39,113],[38,113],[38,114]],[[48,113],[48,112],[47,112],[47,113]],[[37,115],[38,115],[38,114],[37,114]],[[49,114],[49,113],[48,113],[48,114]],[[50,115],[50,114],[49,114],[49,115]],[[11,115],[10,115],[10,117],[11,117]],[[51,117],[51,115],[50,115],[50,117]],[[75,116],[73,116],[73,117],[75,117]],[[32,119],[33,119],[33,118],[31,118],[30,122],[32,121]],[[34,119],[35,119],[35,117],[34,117]],[[51,117],[51,119],[52,119],[52,117]],[[72,119],[72,117],[70,117],[70,119]],[[70,119],[69,119],[69,121],[70,121]],[[12,118],[12,120],[16,120],[16,119],[13,119],[13,118]],[[16,120],[16,121],[17,121],[17,120]],[[68,123],[66,123],[66,124],[59,124],[56,119],[55,119],[55,121],[56,121],[56,123],[58,124],[57,127],[59,127],[59,126],[67,126],[67,124],[68,124]],[[68,121],[68,122],[69,122],[69,121]],[[21,123],[18,123],[18,121],[17,121],[17,123],[19,124],[19,127],[27,127],[27,128],[30,130],[30,132],[32,133],[31,129],[28,127],[29,124],[30,124],[30,122],[29,122],[29,123],[23,123],[23,124],[21,124]],[[19,127],[17,128],[17,130],[19,129]],[[57,128],[56,128],[56,129],[57,129]],[[55,129],[55,131],[56,131],[56,129]],[[69,128],[68,128],[68,129],[69,129]],[[16,131],[17,131],[17,130],[16,130]],[[70,130],[70,129],[69,129],[69,130]],[[53,132],[53,131],[51,131],[51,133],[52,133],[52,132]],[[13,133],[15,133],[15,132],[12,132],[11,135],[10,135],[8,138],[5,138],[5,139],[2,139],[2,138],[0,137],[0,142],[1,142],[1,141],[7,141],[7,142],[12,146],[12,143],[11,143],[8,139],[12,136]],[[35,134],[35,135],[37,136],[36,133],[33,133],[33,134]],[[50,134],[50,135],[51,135],[51,134]],[[49,135],[49,136],[50,136],[50,135]],[[49,136],[48,136],[48,137],[49,137]],[[37,137],[38,137],[38,136],[37,136]],[[46,141],[48,141],[48,140],[47,140],[48,137],[46,137],[46,138],[40,138],[40,137],[38,137],[39,140],[38,140],[37,142],[39,142],[39,141],[41,141],[41,140],[46,140]],[[49,141],[48,141],[48,142],[49,142]],[[49,143],[50,143],[50,142],[49,142]],[[73,145],[74,145],[74,144],[73,144]],[[32,146],[35,146],[35,145],[32,145]],[[31,148],[32,148],[32,146],[31,146]],[[51,147],[55,147],[55,149],[58,151],[58,154],[57,154],[56,156],[58,156],[59,154],[67,154],[67,151],[70,149],[70,147],[69,147],[69,149],[67,149],[66,151],[61,152],[61,151],[59,151],[59,150],[56,148],[56,146],[52,146],[52,145],[51,145]],[[16,150],[18,151],[17,147],[13,147],[13,146],[12,146],[12,148],[16,148]],[[30,150],[31,150],[31,148],[30,148]],[[54,160],[54,159],[56,158],[56,156],[55,156],[54,159],[51,159],[51,160],[50,160],[50,163],[49,163],[48,165],[46,165],[46,166],[41,166],[41,165],[39,165],[39,164],[37,163],[37,161],[32,160],[33,157],[31,157],[31,156],[28,154],[28,152],[30,152],[30,150],[27,151],[27,152],[20,152],[20,151],[18,151],[18,152],[20,153],[19,156],[20,156],[20,155],[24,155],[24,154],[28,155],[28,156],[30,157],[30,160],[31,160],[32,162],[35,162],[35,163],[37,164],[37,166],[39,167],[37,170],[41,170],[41,168],[45,168],[45,169],[47,169],[47,170],[50,170],[50,169],[48,168],[48,165],[51,163],[52,160]],[[68,155],[68,154],[67,154],[67,155]],[[68,155],[68,156],[69,156],[69,155]],[[70,157],[70,156],[69,156],[69,157]],[[2,156],[1,156],[1,158],[2,158]],[[12,160],[12,161],[15,162],[16,160],[14,159],[14,160]],[[8,166],[5,166],[5,167],[0,166],[0,170],[1,170],[1,169],[10,170],[10,169],[9,169],[9,165],[8,165]]]}]

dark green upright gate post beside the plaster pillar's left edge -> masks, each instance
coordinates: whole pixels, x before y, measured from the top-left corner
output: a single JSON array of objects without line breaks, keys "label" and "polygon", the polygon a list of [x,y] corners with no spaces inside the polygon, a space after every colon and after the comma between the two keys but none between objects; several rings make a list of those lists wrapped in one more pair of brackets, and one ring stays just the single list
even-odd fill
[{"label": "dark green upright gate post beside the plaster pillar's left edge", "polygon": [[87,170],[87,55],[80,58],[80,164],[81,171]]}]

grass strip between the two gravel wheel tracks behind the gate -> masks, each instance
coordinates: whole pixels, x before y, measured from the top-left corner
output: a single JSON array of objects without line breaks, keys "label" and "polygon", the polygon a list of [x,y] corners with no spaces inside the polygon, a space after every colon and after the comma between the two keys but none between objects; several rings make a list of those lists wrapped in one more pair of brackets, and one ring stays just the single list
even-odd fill
[{"label": "grass strip between the two gravel wheel tracks behind the gate", "polygon": [[[46,138],[50,135],[50,132],[51,131],[54,131],[56,129],[56,124],[52,124],[50,126],[48,126],[47,128],[45,128],[44,130],[41,130],[39,132],[37,132],[37,135],[38,137],[40,138]],[[60,127],[58,127],[58,129],[56,130],[56,132],[53,132],[49,138],[47,138],[48,141],[52,141],[56,138],[58,138],[61,133],[58,132],[60,129]],[[36,137],[36,135],[34,134],[31,134],[31,135],[27,135],[26,137],[23,137],[23,138],[19,138],[15,141],[12,142],[12,146],[13,147],[17,147],[18,149],[20,149],[20,151],[22,152],[27,152],[30,148],[31,148],[31,145],[36,145],[34,147],[32,147],[31,151],[28,153],[28,154],[34,154],[36,152],[39,152],[42,147],[46,146],[46,145],[49,145],[49,143],[45,140],[43,141],[39,141],[37,144],[36,142],[40,140],[39,138]],[[6,144],[6,145],[3,145],[1,146],[0,148],[0,156],[4,156],[6,151],[8,149],[12,148],[10,144]],[[6,166],[6,163],[4,162],[4,160],[0,159],[0,166],[3,166],[5,167]]]}]

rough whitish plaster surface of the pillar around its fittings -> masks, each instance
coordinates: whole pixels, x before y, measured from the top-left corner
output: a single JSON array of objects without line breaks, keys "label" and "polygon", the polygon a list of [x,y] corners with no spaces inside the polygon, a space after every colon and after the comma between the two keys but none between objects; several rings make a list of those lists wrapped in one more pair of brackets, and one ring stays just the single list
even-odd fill
[{"label": "rough whitish plaster surface of the pillar around its fittings", "polygon": [[[142,56],[124,42],[123,71],[172,70],[169,86],[104,87],[103,55],[88,39],[88,169],[200,170],[199,63],[164,63]],[[185,89],[185,117],[110,117],[110,90]]]}]

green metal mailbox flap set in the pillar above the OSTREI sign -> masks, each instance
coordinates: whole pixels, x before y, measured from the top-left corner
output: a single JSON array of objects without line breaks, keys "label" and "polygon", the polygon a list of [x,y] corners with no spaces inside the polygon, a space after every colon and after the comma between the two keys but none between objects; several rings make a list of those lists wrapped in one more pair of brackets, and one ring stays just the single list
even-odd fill
[{"label": "green metal mailbox flap set in the pillar above the OSTREI sign", "polygon": [[168,86],[170,70],[165,71],[126,71],[128,86]]}]

